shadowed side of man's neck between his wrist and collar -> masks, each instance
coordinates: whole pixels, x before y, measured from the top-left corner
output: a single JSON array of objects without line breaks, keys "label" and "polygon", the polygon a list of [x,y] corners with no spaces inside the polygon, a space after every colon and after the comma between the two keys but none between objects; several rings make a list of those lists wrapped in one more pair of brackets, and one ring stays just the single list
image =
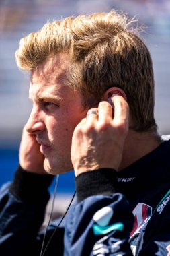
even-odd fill
[{"label": "shadowed side of man's neck between his wrist and collar", "polygon": [[124,142],[124,151],[119,170],[136,162],[161,144],[161,137],[156,133],[128,131]]}]

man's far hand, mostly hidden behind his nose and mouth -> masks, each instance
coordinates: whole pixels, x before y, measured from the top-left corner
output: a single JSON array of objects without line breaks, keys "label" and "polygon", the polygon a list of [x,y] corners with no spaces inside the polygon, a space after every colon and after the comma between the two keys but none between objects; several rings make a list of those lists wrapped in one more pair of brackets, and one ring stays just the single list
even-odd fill
[{"label": "man's far hand, mostly hidden behind his nose and mouth", "polygon": [[22,133],[19,162],[24,170],[37,174],[46,174],[43,167],[44,156],[40,152],[40,145],[36,141],[36,135],[28,133],[26,126]]}]

